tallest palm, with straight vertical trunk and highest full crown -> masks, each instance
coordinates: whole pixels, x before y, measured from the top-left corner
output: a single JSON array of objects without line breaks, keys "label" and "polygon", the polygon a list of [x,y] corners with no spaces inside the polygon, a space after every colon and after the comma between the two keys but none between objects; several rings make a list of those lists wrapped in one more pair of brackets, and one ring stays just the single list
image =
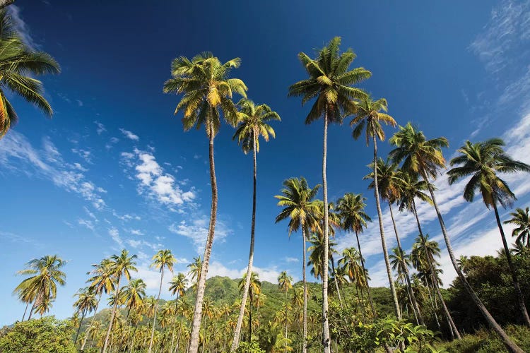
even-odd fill
[{"label": "tallest palm, with straight vertical trunk and highest full crown", "polygon": [[[310,113],[307,114],[305,124],[324,118],[324,141],[322,152],[322,186],[324,190],[324,241],[328,241],[328,189],[326,181],[326,153],[327,153],[327,128],[329,123],[341,122],[347,112],[355,110],[352,100],[365,97],[365,92],[352,85],[359,83],[371,76],[365,68],[349,70],[355,59],[353,50],[339,54],[341,38],[334,37],[326,47],[322,48],[316,59],[311,59],[307,54],[300,52],[298,59],[302,62],[309,75],[306,80],[301,80],[289,88],[289,96],[302,97],[302,104],[316,98]],[[327,245],[324,251],[324,273],[327,273]],[[322,277],[322,345],[324,353],[330,352],[327,276]]]}]

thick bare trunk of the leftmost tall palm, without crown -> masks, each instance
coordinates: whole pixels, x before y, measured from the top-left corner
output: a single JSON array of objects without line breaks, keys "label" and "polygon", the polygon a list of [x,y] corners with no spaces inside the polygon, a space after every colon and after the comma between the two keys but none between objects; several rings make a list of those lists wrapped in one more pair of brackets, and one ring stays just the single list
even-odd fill
[{"label": "thick bare trunk of the leftmost tall palm, without crown", "polygon": [[211,248],[213,246],[213,236],[216,230],[217,218],[217,179],[216,166],[213,160],[213,127],[210,123],[208,138],[210,140],[208,154],[210,159],[210,184],[211,184],[211,210],[210,225],[208,227],[208,238],[204,248],[203,265],[201,268],[201,278],[197,285],[197,298],[195,301],[195,311],[192,323],[192,335],[189,338],[188,353],[197,353],[199,350],[199,331],[201,330],[202,302],[204,299],[204,287],[206,287],[206,275],[208,275],[208,265],[210,264]]}]

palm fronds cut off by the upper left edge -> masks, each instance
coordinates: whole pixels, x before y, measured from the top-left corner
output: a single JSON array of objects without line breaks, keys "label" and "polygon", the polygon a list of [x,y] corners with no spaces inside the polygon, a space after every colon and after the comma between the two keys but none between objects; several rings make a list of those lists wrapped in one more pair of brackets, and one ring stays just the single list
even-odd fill
[{"label": "palm fronds cut off by the upper left edge", "polygon": [[51,55],[37,52],[24,44],[11,16],[5,9],[0,10],[0,138],[18,119],[4,87],[52,116],[52,107],[43,97],[42,82],[34,76],[60,71],[59,64]]}]

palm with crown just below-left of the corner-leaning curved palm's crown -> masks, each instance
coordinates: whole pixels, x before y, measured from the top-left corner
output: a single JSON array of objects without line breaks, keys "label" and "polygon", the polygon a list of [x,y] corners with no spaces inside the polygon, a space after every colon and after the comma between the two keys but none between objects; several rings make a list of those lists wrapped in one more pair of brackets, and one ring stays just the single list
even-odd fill
[{"label": "palm with crown just below-left of the corner-leaning curved palm's crown", "polygon": [[[394,212],[392,211],[392,203],[396,203],[401,197],[402,183],[400,178],[401,173],[398,171],[398,165],[396,163],[391,163],[388,159],[384,161],[382,158],[379,158],[377,160],[377,164],[374,164],[372,162],[369,167],[372,169],[372,172],[365,176],[364,179],[372,179],[372,183],[370,183],[368,189],[374,189],[374,177],[377,172],[377,175],[379,177],[379,193],[381,194],[381,198],[387,201],[388,203],[392,225],[394,226],[394,234],[396,235],[396,242],[398,246],[397,249],[401,253],[399,254],[398,258],[401,258],[405,261],[405,253],[403,251],[403,248],[401,247],[401,239],[399,239],[396,221],[394,220]],[[408,275],[408,266],[406,266],[405,264],[401,264],[399,268],[403,270],[402,274],[405,280],[408,300],[411,301],[412,311],[414,316],[416,317],[416,321],[419,321],[418,325],[420,323],[421,325],[425,325],[425,323],[423,322],[423,316],[421,315],[420,307],[418,306],[416,297],[414,297],[414,293],[412,292],[411,277]]]}]

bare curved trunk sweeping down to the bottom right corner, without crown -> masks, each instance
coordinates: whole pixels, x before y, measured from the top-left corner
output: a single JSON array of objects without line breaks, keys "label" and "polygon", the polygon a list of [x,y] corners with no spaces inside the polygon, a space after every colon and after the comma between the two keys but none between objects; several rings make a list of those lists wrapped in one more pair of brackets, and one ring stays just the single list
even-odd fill
[{"label": "bare curved trunk sweeping down to the bottom right corner, without crown", "polygon": [[436,215],[438,216],[438,221],[440,222],[440,228],[442,229],[442,234],[444,236],[445,246],[447,247],[447,252],[449,253],[449,258],[451,259],[451,263],[453,264],[454,270],[457,271],[457,275],[462,281],[462,284],[464,285],[464,288],[466,288],[467,292],[469,293],[469,296],[475,303],[475,305],[478,307],[478,310],[481,311],[482,315],[484,316],[485,320],[488,321],[491,328],[499,335],[502,342],[505,344],[507,349],[510,352],[517,352],[517,353],[523,353],[524,351],[516,345],[510,337],[505,333],[505,330],[502,330],[500,325],[495,321],[495,318],[491,316],[490,312],[484,304],[482,303],[481,299],[478,297],[476,292],[471,288],[471,285],[467,281],[466,277],[464,276],[464,273],[462,273],[458,263],[457,258],[454,256],[453,247],[451,245],[451,241],[449,240],[449,236],[447,235],[447,229],[445,228],[444,220],[442,218],[442,213],[440,213],[440,210],[438,209],[438,205],[436,203],[435,193],[432,190],[432,186],[429,184],[429,179],[427,175],[425,174],[425,169],[423,169],[423,166],[421,166],[421,174],[423,179],[428,183],[428,189],[430,193],[430,198],[432,198],[432,204],[435,206]]}]

